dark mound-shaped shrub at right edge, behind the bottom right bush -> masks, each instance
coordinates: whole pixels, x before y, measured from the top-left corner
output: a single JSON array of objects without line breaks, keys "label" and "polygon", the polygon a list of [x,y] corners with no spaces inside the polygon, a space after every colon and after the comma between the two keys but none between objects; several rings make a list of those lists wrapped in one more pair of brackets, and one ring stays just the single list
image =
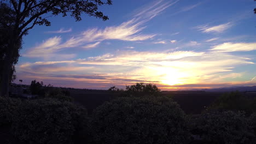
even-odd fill
[{"label": "dark mound-shaped shrub at right edge, behind the bottom right bush", "polygon": [[208,109],[246,111],[252,113],[256,110],[256,99],[253,101],[238,91],[225,93],[217,98]]}]

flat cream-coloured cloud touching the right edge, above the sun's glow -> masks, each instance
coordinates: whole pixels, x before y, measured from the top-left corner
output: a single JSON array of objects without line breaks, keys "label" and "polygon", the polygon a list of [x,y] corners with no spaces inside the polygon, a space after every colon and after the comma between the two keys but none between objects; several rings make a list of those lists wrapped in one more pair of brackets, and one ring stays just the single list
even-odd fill
[{"label": "flat cream-coloured cloud touching the right edge, above the sun's glow", "polygon": [[253,51],[256,43],[223,43],[215,45],[211,49],[214,52]]}]

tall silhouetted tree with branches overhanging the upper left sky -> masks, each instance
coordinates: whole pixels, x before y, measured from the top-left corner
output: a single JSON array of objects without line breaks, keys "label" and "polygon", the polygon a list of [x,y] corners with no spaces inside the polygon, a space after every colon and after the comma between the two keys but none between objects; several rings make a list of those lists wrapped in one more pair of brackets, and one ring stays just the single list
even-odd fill
[{"label": "tall silhouetted tree with branches overhanging the upper left sky", "polygon": [[13,64],[14,54],[19,51],[19,42],[35,25],[50,26],[48,17],[62,14],[63,17],[70,14],[75,21],[82,20],[82,14],[95,16],[103,21],[108,20],[108,16],[98,11],[98,6],[112,4],[111,0],[0,0],[11,9],[13,21],[9,23],[7,52],[3,60],[3,73],[1,83],[1,95],[8,97],[8,81]]}]

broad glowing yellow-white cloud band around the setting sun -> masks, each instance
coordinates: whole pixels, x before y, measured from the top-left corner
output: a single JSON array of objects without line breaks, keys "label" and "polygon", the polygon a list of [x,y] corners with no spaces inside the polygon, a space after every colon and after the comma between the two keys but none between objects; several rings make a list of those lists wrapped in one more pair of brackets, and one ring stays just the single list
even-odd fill
[{"label": "broad glowing yellow-white cloud band around the setting sun", "polygon": [[228,53],[117,51],[72,61],[24,63],[17,69],[21,79],[38,76],[54,80],[58,77],[56,80],[59,81],[84,82],[85,85],[98,83],[105,88],[113,83],[125,86],[142,81],[172,87],[235,79],[242,73],[234,73],[233,69],[254,64],[250,60]]}]

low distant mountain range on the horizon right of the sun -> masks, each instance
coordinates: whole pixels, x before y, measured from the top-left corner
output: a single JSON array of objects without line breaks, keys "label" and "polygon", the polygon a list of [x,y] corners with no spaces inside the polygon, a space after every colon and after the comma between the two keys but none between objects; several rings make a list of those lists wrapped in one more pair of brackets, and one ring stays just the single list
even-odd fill
[{"label": "low distant mountain range on the horizon right of the sun", "polygon": [[[184,91],[184,90],[182,90]],[[188,89],[185,91],[205,91],[205,92],[256,92],[256,86],[240,86],[240,87],[220,87],[220,88],[212,88],[212,89]]]}]

